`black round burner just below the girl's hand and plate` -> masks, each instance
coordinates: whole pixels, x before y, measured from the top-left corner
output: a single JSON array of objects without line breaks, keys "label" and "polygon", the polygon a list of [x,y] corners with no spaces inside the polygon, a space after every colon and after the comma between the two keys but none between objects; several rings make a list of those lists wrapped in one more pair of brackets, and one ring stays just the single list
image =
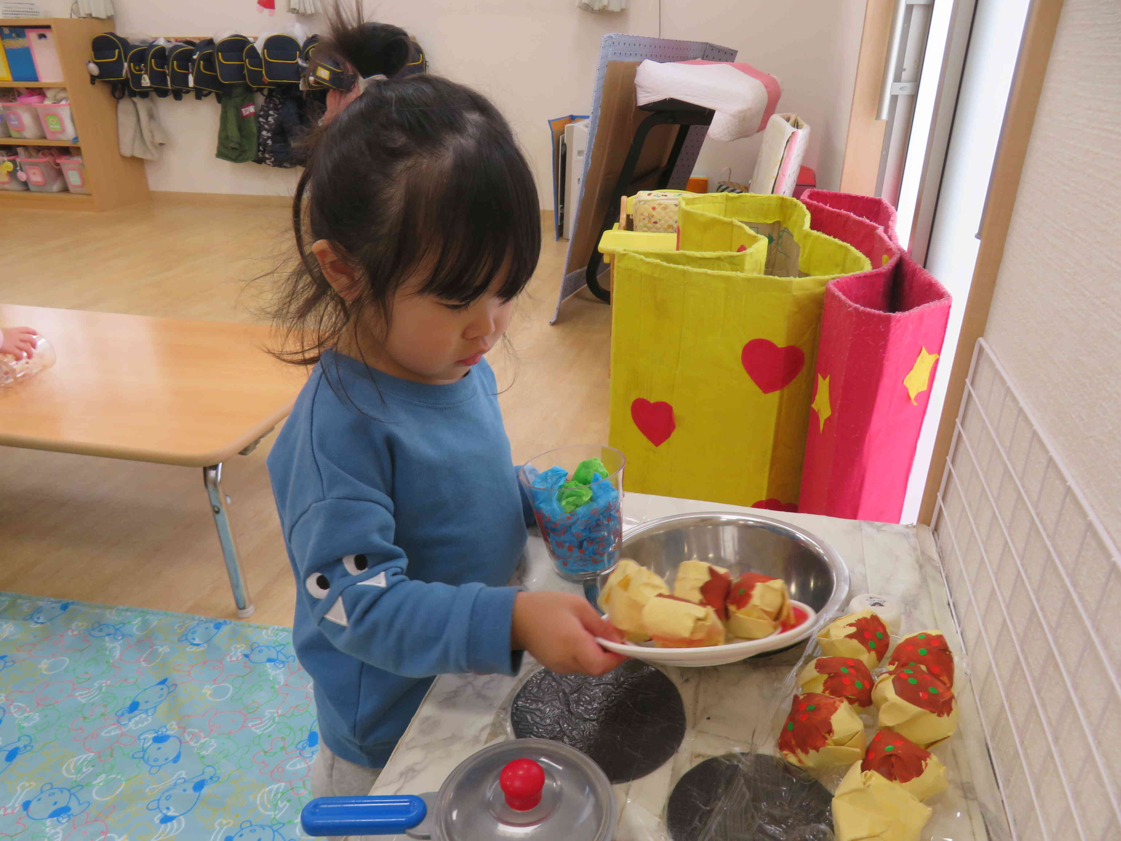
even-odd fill
[{"label": "black round burner just below the girl's hand and plate", "polygon": [[612,783],[661,767],[685,738],[685,705],[666,675],[629,660],[602,677],[541,669],[510,710],[519,739],[553,739],[590,756]]}]

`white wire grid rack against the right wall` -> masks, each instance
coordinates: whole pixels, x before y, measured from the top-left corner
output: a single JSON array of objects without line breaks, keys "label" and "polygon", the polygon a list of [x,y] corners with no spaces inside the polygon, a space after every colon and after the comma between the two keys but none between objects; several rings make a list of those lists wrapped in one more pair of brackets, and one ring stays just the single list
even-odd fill
[{"label": "white wire grid rack against the right wall", "polygon": [[933,530],[1013,837],[1118,841],[1118,548],[983,339]]}]

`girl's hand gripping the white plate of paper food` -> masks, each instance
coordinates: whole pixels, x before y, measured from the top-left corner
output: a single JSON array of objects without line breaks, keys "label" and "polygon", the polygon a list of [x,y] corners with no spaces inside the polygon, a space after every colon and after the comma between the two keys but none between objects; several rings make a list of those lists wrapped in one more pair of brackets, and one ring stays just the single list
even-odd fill
[{"label": "girl's hand gripping the white plate of paper food", "polygon": [[622,634],[583,597],[556,592],[518,593],[513,601],[512,647],[529,651],[552,672],[602,675],[627,659],[605,650],[595,637],[623,641]]}]

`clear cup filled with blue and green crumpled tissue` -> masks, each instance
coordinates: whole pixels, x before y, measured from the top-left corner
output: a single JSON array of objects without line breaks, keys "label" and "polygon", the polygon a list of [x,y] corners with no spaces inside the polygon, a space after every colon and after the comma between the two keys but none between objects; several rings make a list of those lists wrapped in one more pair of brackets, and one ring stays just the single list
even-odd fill
[{"label": "clear cup filled with blue and green crumpled tissue", "polygon": [[[608,475],[577,482],[576,469],[599,459]],[[518,471],[557,575],[566,581],[594,579],[619,563],[621,502],[627,459],[613,446],[577,444],[550,450]],[[568,487],[564,487],[567,484]]]}]

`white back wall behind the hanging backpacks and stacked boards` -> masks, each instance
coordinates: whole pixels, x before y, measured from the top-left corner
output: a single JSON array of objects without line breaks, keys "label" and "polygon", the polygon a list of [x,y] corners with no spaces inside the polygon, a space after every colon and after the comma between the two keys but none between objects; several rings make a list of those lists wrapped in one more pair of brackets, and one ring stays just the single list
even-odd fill
[{"label": "white back wall behind the hanging backpacks and stacked boards", "polygon": [[[48,13],[68,15],[68,0],[41,0]],[[115,0],[123,35],[206,35],[234,28],[257,35],[291,19],[256,11],[252,0]],[[278,2],[277,6],[281,6]],[[740,50],[740,59],[777,75],[781,111],[794,111],[812,128],[806,164],[818,185],[840,182],[849,108],[863,25],[863,0],[630,0],[621,13],[592,15],[575,0],[385,0],[367,3],[371,18],[414,34],[430,70],[491,96],[510,120],[538,178],[543,206],[552,206],[549,135],[546,120],[587,113],[600,39],[608,33],[708,40]],[[306,18],[300,20],[307,21]],[[316,21],[311,21],[314,25]],[[314,28],[314,26],[312,26]],[[217,105],[160,101],[172,142],[163,159],[148,164],[152,190],[286,194],[296,175],[256,164],[214,158]],[[710,140],[697,175],[719,179],[726,168],[747,181],[758,139]]]}]

